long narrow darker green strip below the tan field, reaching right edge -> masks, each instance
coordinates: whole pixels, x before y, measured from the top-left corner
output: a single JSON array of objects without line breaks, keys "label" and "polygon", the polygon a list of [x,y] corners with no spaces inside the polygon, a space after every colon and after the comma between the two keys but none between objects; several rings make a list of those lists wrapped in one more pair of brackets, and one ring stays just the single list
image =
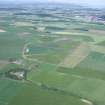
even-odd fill
[{"label": "long narrow darker green strip below the tan field, reaching right edge", "polygon": [[96,71],[94,69],[90,68],[83,68],[83,67],[75,67],[75,68],[64,68],[64,67],[59,67],[57,69],[58,72],[61,73],[66,73],[69,75],[74,75],[74,76],[81,76],[81,77],[86,77],[86,78],[97,78],[101,80],[105,80],[105,73],[102,71]]}]

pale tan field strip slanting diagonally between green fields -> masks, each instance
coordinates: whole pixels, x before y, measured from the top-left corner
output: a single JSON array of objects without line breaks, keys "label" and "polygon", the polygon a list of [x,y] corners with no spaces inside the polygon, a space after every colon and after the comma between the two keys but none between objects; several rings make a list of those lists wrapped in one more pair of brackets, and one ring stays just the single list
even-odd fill
[{"label": "pale tan field strip slanting diagonally between green fields", "polygon": [[74,68],[89,55],[90,51],[90,46],[86,43],[82,43],[74,50],[72,54],[67,55],[59,66]]}]

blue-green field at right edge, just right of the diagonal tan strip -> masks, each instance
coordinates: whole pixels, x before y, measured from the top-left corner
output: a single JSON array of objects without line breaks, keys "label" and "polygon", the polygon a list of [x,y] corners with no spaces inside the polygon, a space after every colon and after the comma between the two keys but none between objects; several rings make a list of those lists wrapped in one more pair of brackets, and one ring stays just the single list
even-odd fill
[{"label": "blue-green field at right edge, just right of the diagonal tan strip", "polygon": [[105,72],[105,54],[91,52],[78,66]]}]

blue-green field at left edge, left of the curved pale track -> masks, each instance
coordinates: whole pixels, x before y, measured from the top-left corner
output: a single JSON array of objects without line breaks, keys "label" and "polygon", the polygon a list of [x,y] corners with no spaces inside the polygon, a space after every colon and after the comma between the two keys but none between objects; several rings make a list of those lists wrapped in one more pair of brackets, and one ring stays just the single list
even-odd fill
[{"label": "blue-green field at left edge, left of the curved pale track", "polygon": [[0,34],[0,59],[21,58],[23,45],[24,41],[12,33]]}]

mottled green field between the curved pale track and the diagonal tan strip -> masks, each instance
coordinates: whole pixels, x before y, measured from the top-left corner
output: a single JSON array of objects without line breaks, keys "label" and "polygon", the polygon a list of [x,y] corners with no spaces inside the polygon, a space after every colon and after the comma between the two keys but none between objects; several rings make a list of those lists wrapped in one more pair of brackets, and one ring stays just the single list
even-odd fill
[{"label": "mottled green field between the curved pale track and the diagonal tan strip", "polygon": [[37,59],[41,62],[59,64],[68,53],[73,52],[79,43],[78,41],[59,41],[50,44],[39,44],[37,46],[33,43],[27,46],[30,50],[29,53],[27,53],[27,57],[33,60]]}]

